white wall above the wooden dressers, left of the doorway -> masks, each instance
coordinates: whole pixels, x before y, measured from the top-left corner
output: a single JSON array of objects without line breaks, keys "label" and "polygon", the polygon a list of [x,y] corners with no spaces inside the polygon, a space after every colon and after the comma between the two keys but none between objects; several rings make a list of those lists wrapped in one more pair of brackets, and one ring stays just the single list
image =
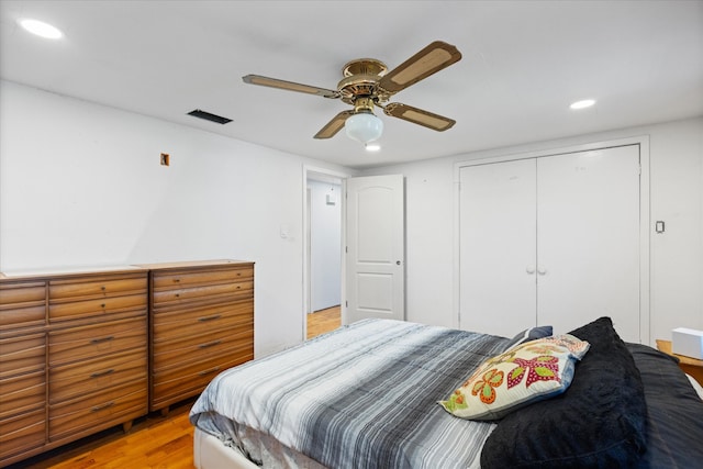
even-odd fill
[{"label": "white wall above the wooden dressers, left of the doorway", "polygon": [[301,342],[302,167],[339,167],[16,83],[0,96],[0,270],[252,260],[256,355]]}]

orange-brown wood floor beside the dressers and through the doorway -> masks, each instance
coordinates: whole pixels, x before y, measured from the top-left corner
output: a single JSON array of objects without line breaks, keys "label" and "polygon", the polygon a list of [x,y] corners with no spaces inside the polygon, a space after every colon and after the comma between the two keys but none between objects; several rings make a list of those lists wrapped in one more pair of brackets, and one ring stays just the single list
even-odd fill
[{"label": "orange-brown wood floor beside the dressers and through the doorway", "polygon": [[[308,338],[342,323],[339,306],[308,314]],[[193,469],[193,427],[188,414],[194,399],[134,423],[130,433],[116,426],[7,469]]]}]

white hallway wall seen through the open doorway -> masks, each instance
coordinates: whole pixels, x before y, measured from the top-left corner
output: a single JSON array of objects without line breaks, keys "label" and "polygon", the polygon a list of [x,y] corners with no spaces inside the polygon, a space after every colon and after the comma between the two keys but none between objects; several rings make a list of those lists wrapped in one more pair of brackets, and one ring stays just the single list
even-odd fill
[{"label": "white hallway wall seen through the open doorway", "polygon": [[[308,181],[311,191],[311,310],[339,304],[342,293],[342,186]],[[327,197],[334,203],[327,203]],[[311,311],[311,312],[312,312]]]}]

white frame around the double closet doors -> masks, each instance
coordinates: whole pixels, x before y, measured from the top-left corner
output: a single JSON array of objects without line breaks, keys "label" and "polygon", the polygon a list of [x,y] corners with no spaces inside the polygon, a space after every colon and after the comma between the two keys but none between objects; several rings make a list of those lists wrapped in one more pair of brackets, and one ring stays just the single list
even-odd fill
[{"label": "white frame around the double closet doors", "polygon": [[588,152],[603,149],[614,146],[639,145],[639,334],[644,344],[651,345],[650,328],[650,193],[649,193],[649,135],[639,135],[627,138],[617,138],[611,141],[599,141],[569,145],[563,147],[554,147],[546,149],[536,149],[522,153],[504,153],[496,154],[494,157],[486,157],[482,155],[477,159],[465,159],[454,164],[454,263],[453,263],[453,310],[454,310],[454,327],[459,327],[459,315],[461,311],[460,304],[460,170],[462,167],[484,165],[490,163],[510,161],[515,159],[540,158],[546,156],[557,156],[569,153]]}]

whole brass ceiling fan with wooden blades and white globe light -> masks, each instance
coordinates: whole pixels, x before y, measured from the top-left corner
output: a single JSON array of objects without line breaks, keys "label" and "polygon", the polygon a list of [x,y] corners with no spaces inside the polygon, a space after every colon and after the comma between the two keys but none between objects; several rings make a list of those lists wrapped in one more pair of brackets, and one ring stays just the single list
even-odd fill
[{"label": "whole brass ceiling fan with wooden blades and white globe light", "polygon": [[383,121],[373,114],[376,105],[381,108],[386,115],[399,118],[434,131],[443,132],[450,129],[456,123],[453,119],[399,102],[387,104],[387,101],[397,92],[460,59],[461,53],[455,46],[435,41],[391,71],[388,71],[386,64],[375,58],[352,60],[342,69],[344,78],[337,85],[336,90],[260,75],[247,75],[242,79],[250,85],[341,99],[343,102],[352,104],[354,110],[342,111],[332,118],[315,134],[314,138],[331,138],[342,127],[346,127],[349,137],[367,144],[378,139],[383,132]]}]

